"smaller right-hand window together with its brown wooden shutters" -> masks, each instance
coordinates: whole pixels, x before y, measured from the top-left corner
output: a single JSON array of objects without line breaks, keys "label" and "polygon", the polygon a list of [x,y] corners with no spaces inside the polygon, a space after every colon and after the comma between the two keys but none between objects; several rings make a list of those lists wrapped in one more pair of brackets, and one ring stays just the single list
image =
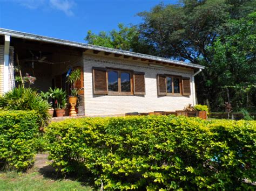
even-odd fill
[{"label": "smaller right-hand window together with its brown wooden shutters", "polygon": [[157,75],[158,95],[190,95],[190,78],[171,75]]}]

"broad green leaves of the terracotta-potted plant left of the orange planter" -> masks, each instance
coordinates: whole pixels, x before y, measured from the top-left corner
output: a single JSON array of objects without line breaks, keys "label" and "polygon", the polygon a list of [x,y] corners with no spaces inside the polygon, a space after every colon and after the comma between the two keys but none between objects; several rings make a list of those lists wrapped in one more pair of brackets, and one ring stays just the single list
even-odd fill
[{"label": "broad green leaves of the terracotta-potted plant left of the orange planter", "polygon": [[66,91],[62,88],[49,88],[50,96],[55,99],[55,108],[64,109],[66,107]]}]

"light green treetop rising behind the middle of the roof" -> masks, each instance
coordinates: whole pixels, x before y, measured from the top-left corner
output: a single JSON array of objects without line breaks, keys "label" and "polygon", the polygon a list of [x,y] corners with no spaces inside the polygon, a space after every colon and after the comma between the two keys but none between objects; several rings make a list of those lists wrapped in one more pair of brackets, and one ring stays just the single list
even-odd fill
[{"label": "light green treetop rising behind the middle of the roof", "polygon": [[120,23],[118,28],[119,30],[110,32],[101,31],[99,34],[88,31],[85,40],[93,45],[153,54],[152,46],[147,44],[143,38],[140,38],[140,33],[136,26],[128,27]]}]

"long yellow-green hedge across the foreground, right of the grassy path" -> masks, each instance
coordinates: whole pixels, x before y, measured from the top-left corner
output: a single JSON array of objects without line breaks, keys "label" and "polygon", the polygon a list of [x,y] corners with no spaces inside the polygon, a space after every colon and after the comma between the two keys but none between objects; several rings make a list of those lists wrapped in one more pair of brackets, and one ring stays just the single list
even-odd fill
[{"label": "long yellow-green hedge across the foreground, right of the grassy path", "polygon": [[[253,189],[255,121],[81,118],[46,129],[49,159],[104,189]],[[246,181],[245,181],[246,180]]]}]

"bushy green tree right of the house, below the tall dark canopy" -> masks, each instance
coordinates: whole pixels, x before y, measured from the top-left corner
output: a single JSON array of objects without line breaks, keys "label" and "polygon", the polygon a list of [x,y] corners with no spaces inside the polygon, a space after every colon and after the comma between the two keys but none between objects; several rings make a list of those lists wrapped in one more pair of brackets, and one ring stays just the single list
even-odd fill
[{"label": "bushy green tree right of the house, below the tall dark canopy", "polygon": [[[253,90],[256,87],[256,12],[239,20],[229,21],[229,35],[217,38],[208,51],[211,62],[202,60],[206,69],[200,75],[198,84],[204,88],[199,90],[201,95],[219,97],[231,95],[230,102],[241,108],[251,105],[255,100]],[[217,85],[217,86],[216,86]],[[206,99],[206,97],[204,97]],[[226,100],[227,101],[227,100]],[[215,103],[214,103],[215,102]],[[249,102],[249,103],[248,103]],[[219,105],[217,99],[212,104]]]}]

